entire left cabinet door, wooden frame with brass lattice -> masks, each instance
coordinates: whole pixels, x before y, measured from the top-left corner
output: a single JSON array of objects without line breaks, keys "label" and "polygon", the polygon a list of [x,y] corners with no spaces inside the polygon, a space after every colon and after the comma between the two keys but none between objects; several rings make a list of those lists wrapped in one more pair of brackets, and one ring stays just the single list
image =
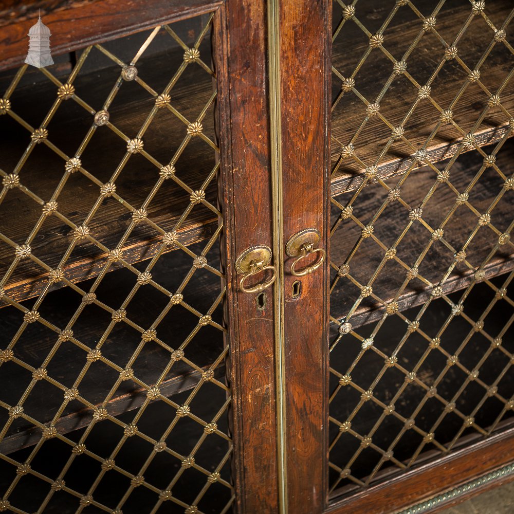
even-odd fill
[{"label": "entire left cabinet door, wooden frame with brass lattice", "polygon": [[0,511],[277,511],[273,290],[234,270],[272,246],[264,3],[43,8],[41,69],[15,14]]}]

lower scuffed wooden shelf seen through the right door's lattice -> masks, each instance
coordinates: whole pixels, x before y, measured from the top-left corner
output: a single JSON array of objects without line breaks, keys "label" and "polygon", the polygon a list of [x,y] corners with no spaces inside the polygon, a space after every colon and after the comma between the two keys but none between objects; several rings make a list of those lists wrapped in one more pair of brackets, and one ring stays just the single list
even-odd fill
[{"label": "lower scuffed wooden shelf seen through the right door's lattice", "polygon": [[[508,142],[497,156],[497,166],[504,174],[512,174],[512,151],[514,146]],[[450,182],[457,191],[465,191],[469,183],[482,166],[482,156],[478,152],[462,155],[450,170]],[[444,169],[445,162],[438,165]],[[419,205],[425,194],[435,183],[435,172],[429,168],[422,168],[415,175],[406,180],[401,187],[402,198],[411,206]],[[394,180],[389,186],[394,188]],[[469,204],[480,214],[485,213],[493,199],[502,191],[503,180],[493,168],[485,169],[481,178],[469,191]],[[375,183],[364,190],[353,204],[354,215],[366,225],[382,201],[387,197],[387,191]],[[348,197],[349,198],[349,197]],[[439,184],[432,198],[423,209],[423,219],[435,230],[445,218],[446,214],[455,205],[456,194],[445,183]],[[344,205],[344,204],[343,204]],[[491,211],[491,224],[500,232],[508,229],[512,223],[512,209],[514,195],[506,191],[499,203]],[[333,206],[333,222],[340,214],[340,210]],[[374,235],[383,244],[392,247],[403,229],[409,222],[408,210],[398,202],[389,204],[374,224]],[[459,251],[465,244],[469,235],[478,223],[478,216],[466,206],[457,207],[456,212],[444,227],[444,238],[453,248]],[[352,221],[343,221],[339,229],[331,238],[331,261],[336,266],[341,265],[354,244],[361,235],[361,229]],[[431,241],[431,233],[419,222],[415,222],[397,247],[397,257],[408,266],[413,266],[418,256]],[[478,268],[487,257],[492,247],[498,242],[498,234],[490,227],[480,227],[467,247],[468,262]],[[380,265],[384,250],[372,238],[362,241],[357,253],[350,261],[350,273],[361,284],[367,284],[373,273]],[[438,284],[443,277],[444,270],[453,262],[451,250],[442,241],[432,242],[423,262],[419,266],[419,273],[433,284]],[[490,279],[500,273],[514,269],[514,251],[510,244],[502,245],[493,255],[492,259],[483,268],[485,278]],[[391,301],[403,281],[407,270],[395,260],[387,261],[373,283],[373,293],[384,302]],[[333,279],[336,269],[332,270]],[[443,284],[446,293],[464,289],[474,280],[474,270],[469,269],[465,263],[457,263],[448,279]],[[343,319],[359,297],[357,286],[346,278],[339,279],[331,293],[331,313],[336,319]],[[411,280],[397,299],[400,310],[420,305],[426,302],[431,295],[431,288],[418,279]],[[372,323],[383,315],[384,306],[373,300],[364,298],[351,317],[353,326]]]}]

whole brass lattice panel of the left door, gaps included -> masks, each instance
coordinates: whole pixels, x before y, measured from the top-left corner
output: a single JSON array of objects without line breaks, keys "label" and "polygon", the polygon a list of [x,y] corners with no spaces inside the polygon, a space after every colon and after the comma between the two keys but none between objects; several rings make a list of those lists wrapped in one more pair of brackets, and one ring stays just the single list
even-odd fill
[{"label": "whole brass lattice panel of the left door, gaps included", "polygon": [[230,509],[212,22],[0,77],[0,511]]}]

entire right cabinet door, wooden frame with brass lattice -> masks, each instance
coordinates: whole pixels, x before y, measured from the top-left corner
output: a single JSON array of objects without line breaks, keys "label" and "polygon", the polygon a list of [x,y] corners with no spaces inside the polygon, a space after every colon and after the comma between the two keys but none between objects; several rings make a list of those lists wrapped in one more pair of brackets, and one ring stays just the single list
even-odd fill
[{"label": "entire right cabinet door, wooden frame with brass lattice", "polygon": [[329,234],[329,293],[320,267],[293,298],[285,268],[288,505],[396,512],[469,482],[428,511],[512,473],[513,11],[322,4],[280,10],[282,244]]}]

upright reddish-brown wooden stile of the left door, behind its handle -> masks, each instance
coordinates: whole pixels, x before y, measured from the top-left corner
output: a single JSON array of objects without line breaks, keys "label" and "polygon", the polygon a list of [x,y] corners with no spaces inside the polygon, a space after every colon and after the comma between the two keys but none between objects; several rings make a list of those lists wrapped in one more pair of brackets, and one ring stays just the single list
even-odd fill
[{"label": "upright reddish-brown wooden stile of the left door, behind its handle", "polygon": [[[272,247],[266,2],[228,0],[218,11],[218,135],[225,231],[226,316],[233,392],[236,511],[278,512],[273,291],[238,290],[237,255]],[[262,280],[258,277],[256,280]]]}]

